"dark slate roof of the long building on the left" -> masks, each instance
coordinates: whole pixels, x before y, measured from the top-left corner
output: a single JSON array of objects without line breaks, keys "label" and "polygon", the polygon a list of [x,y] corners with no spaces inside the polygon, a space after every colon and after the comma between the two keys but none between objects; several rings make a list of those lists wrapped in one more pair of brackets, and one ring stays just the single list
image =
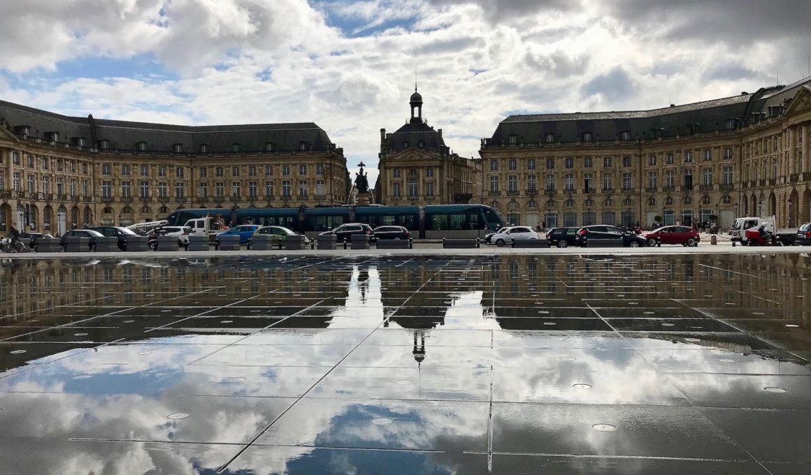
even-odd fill
[{"label": "dark slate roof of the long building on the left", "polygon": [[262,152],[266,143],[274,150],[299,150],[299,143],[307,142],[313,152],[333,150],[335,145],[327,133],[312,122],[286,124],[245,124],[234,126],[174,126],[148,122],[126,122],[67,117],[25,105],[0,101],[0,118],[13,130],[14,126],[29,126],[32,136],[45,139],[46,132],[59,132],[59,141],[83,137],[88,147],[101,140],[109,140],[110,149],[131,151],[135,144],[147,143],[148,152],[169,152],[174,144],[182,145],[182,152],[199,152],[200,145],[208,145],[212,153],[230,152],[233,144],[242,145],[244,152]]}]

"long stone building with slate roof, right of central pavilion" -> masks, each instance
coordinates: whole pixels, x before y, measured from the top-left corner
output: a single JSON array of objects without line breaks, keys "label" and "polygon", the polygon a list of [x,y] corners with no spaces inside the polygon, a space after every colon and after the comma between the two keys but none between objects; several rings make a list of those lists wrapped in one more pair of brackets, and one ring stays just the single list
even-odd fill
[{"label": "long stone building with slate roof, right of central pavilion", "polygon": [[811,220],[811,79],[714,101],[511,116],[483,139],[480,201],[513,224]]}]

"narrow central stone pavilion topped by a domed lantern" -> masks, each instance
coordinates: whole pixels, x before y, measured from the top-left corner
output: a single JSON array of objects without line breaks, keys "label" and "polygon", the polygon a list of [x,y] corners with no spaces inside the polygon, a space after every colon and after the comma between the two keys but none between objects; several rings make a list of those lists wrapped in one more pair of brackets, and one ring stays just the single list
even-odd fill
[{"label": "narrow central stone pavilion topped by a domed lantern", "polygon": [[442,129],[423,119],[423,96],[410,98],[411,118],[393,134],[380,129],[375,202],[386,205],[474,203],[481,189],[481,160],[453,153]]}]

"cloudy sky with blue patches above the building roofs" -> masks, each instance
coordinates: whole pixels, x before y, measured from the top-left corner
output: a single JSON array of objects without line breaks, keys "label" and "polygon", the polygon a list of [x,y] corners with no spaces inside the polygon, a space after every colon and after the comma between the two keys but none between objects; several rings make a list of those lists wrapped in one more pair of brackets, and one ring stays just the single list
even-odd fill
[{"label": "cloudy sky with blue patches above the building roofs", "polygon": [[315,122],[369,165],[423,118],[654,109],[811,75],[807,0],[0,0],[0,99],[174,124]]}]

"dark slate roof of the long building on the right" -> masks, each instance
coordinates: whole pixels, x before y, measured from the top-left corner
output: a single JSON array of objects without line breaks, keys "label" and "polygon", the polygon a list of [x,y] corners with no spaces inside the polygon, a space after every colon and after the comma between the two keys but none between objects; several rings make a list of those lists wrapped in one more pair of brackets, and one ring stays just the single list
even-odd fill
[{"label": "dark slate roof of the long building on the right", "polygon": [[735,119],[737,126],[746,125],[752,113],[767,113],[770,105],[783,104],[809,83],[811,78],[791,86],[762,88],[755,93],[662,109],[513,115],[500,122],[484,146],[508,144],[510,135],[516,135],[518,143],[539,143],[546,142],[547,134],[554,134],[555,142],[577,142],[586,132],[591,133],[594,141],[613,141],[622,132],[629,132],[631,139],[686,135],[694,124],[698,124],[701,132],[724,130],[727,120]]}]

